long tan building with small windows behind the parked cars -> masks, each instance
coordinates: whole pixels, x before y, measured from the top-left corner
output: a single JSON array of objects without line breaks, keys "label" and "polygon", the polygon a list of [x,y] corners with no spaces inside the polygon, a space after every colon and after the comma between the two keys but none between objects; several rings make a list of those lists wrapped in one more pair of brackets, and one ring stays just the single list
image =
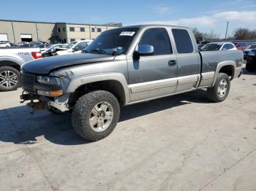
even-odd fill
[{"label": "long tan building with small windows behind the parked cars", "polygon": [[32,41],[66,43],[75,40],[95,39],[103,31],[120,26],[122,26],[122,23],[94,25],[0,20],[0,41],[12,43]]}]

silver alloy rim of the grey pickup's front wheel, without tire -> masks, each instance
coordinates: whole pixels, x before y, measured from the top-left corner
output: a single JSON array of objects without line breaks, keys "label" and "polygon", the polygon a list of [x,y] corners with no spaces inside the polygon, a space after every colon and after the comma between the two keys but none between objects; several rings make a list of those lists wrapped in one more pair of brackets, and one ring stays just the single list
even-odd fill
[{"label": "silver alloy rim of the grey pickup's front wheel, without tire", "polygon": [[91,129],[96,132],[106,130],[113,120],[113,107],[107,102],[102,101],[91,110],[89,123]]}]

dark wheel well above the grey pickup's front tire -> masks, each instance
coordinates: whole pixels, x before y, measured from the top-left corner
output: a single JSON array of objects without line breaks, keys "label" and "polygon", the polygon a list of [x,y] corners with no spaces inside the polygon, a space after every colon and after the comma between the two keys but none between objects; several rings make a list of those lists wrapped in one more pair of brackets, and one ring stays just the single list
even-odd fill
[{"label": "dark wheel well above the grey pickup's front tire", "polygon": [[74,106],[78,98],[82,95],[94,90],[105,90],[116,96],[120,105],[125,104],[124,87],[120,82],[116,80],[105,80],[100,82],[91,82],[86,85],[78,87],[74,93],[69,95],[69,106]]}]

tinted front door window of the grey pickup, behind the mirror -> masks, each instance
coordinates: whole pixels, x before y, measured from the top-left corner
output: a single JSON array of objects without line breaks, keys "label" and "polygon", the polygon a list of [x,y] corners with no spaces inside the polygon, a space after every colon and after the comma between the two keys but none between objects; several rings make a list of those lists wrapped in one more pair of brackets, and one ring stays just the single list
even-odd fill
[{"label": "tinted front door window of the grey pickup, behind the mirror", "polygon": [[148,44],[154,47],[154,55],[172,54],[170,38],[165,28],[150,28],[140,39],[139,45]]}]

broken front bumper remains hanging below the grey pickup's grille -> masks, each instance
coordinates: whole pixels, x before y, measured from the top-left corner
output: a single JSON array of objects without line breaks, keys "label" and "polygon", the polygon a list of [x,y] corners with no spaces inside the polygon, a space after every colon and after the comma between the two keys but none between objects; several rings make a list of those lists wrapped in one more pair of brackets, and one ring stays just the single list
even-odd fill
[{"label": "broken front bumper remains hanging below the grey pickup's grille", "polygon": [[30,101],[27,106],[30,106],[33,111],[34,110],[42,110],[42,109],[50,109],[54,107],[59,109],[61,112],[69,111],[69,93],[66,93],[60,97],[56,98],[48,98],[42,95],[31,95],[29,93],[23,92],[20,95],[20,103],[24,103],[25,101]]}]

